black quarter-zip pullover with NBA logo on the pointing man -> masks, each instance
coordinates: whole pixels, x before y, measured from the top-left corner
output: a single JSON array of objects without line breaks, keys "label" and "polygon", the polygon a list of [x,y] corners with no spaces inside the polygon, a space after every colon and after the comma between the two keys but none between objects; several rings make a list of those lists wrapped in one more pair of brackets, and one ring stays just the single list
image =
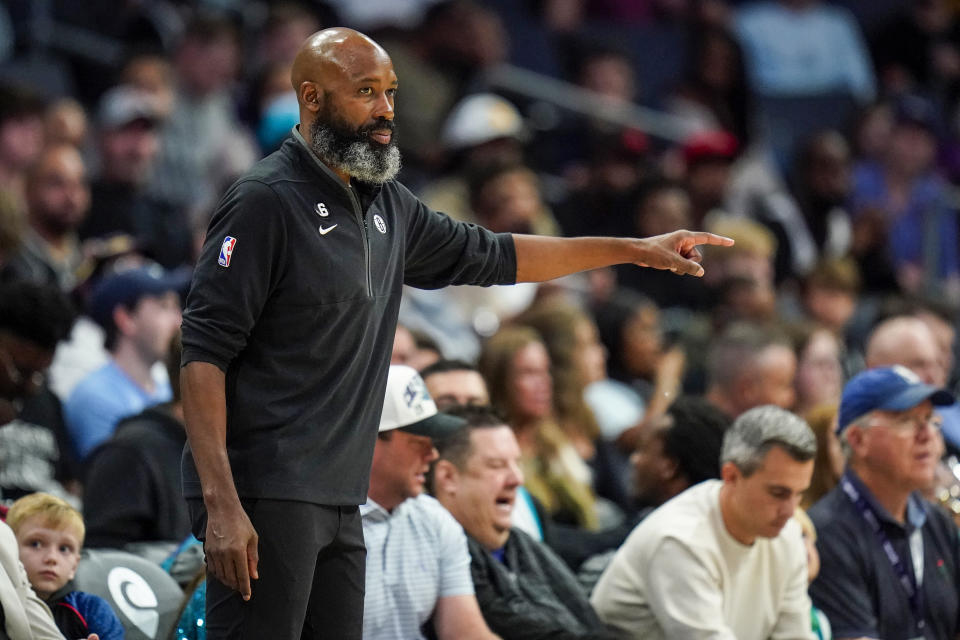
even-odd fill
[{"label": "black quarter-zip pullover with NBA logo on the pointing man", "polygon": [[[366,500],[403,284],[505,284],[509,234],[428,209],[403,185],[347,187],[287,140],[227,190],[194,272],[183,363],[226,372],[243,498]],[[200,497],[193,456],[184,494]]]}]

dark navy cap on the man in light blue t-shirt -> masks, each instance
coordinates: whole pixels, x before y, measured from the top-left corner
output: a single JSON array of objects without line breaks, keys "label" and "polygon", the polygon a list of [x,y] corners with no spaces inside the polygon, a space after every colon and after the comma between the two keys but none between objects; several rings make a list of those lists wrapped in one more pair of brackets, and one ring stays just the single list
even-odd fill
[{"label": "dark navy cap on the man in light blue t-shirt", "polygon": [[169,291],[182,297],[190,285],[190,270],[166,271],[153,264],[104,276],[94,285],[87,305],[90,317],[102,327],[113,324],[113,310],[132,308],[140,298],[161,296]]}]

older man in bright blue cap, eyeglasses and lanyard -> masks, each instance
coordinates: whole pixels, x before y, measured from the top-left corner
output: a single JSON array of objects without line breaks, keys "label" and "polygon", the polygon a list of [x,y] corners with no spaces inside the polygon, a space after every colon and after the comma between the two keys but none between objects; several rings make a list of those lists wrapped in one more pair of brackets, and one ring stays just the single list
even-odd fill
[{"label": "older man in bright blue cap, eyeglasses and lanyard", "polygon": [[953,403],[903,366],[843,390],[837,433],[847,468],[810,509],[822,568],[810,586],[834,638],[956,638],[960,532],[916,492],[940,451],[934,407]]}]

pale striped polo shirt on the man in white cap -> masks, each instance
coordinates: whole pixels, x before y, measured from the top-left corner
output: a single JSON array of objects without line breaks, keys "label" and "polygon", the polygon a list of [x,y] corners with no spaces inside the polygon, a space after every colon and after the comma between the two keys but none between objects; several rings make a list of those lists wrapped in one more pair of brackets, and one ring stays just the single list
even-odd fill
[{"label": "pale striped polo shirt on the man in white cap", "polygon": [[463,528],[428,495],[408,498],[393,513],[367,498],[360,507],[367,545],[363,637],[422,639],[437,600],[473,595]]}]

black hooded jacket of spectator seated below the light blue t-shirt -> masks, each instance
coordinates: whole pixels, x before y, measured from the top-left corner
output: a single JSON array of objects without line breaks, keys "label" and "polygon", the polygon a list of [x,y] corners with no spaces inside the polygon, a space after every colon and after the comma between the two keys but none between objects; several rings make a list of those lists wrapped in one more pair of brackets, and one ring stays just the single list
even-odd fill
[{"label": "black hooded jacket of spectator seated below the light blue t-shirt", "polygon": [[180,489],[183,424],[163,406],[122,420],[90,455],[83,500],[86,546],[183,540],[190,517]]}]

